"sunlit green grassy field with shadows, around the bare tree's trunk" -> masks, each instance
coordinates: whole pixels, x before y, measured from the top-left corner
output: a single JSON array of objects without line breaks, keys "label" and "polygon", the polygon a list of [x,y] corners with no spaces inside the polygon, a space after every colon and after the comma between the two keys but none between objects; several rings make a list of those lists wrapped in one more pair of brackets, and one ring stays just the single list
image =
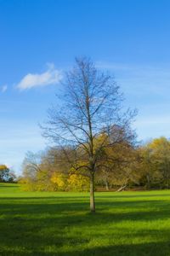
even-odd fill
[{"label": "sunlit green grassy field with shadows, around the bare tree's trunk", "polygon": [[0,255],[170,255],[170,191],[22,192],[0,183]]}]

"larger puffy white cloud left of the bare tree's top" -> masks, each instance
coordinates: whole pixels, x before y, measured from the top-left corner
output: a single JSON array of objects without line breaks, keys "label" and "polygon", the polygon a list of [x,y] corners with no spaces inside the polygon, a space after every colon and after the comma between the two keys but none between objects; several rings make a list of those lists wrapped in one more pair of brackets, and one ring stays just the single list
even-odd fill
[{"label": "larger puffy white cloud left of the bare tree's top", "polygon": [[33,87],[46,86],[49,84],[58,84],[62,79],[62,75],[58,69],[54,67],[54,64],[48,64],[48,70],[44,73],[28,73],[17,84],[19,90],[27,90]]}]

